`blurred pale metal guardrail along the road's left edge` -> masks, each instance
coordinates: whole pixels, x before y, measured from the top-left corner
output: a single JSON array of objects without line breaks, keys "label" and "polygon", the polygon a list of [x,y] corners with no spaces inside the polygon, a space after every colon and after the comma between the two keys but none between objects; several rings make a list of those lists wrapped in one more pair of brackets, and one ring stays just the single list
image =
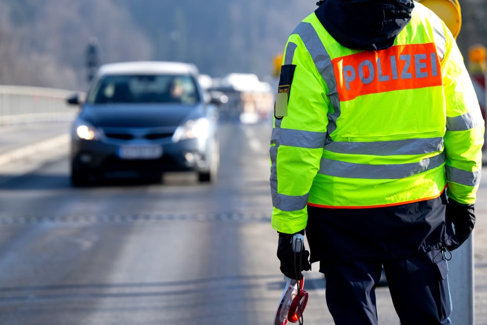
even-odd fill
[{"label": "blurred pale metal guardrail along the road's left edge", "polygon": [[73,120],[77,110],[66,99],[75,91],[0,85],[0,126]]}]

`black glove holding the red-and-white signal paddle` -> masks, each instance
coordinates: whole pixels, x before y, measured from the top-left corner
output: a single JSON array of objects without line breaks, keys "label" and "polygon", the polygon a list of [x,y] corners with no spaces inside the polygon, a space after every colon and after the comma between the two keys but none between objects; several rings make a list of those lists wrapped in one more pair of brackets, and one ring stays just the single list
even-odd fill
[{"label": "black glove holding the red-and-white signal paddle", "polygon": [[[299,233],[304,234],[304,230]],[[293,252],[291,242],[293,235],[279,233],[278,258],[281,261],[281,272],[288,278],[300,280],[303,277],[302,271],[311,270],[308,261],[309,252],[304,249],[304,242],[301,252]]]}]

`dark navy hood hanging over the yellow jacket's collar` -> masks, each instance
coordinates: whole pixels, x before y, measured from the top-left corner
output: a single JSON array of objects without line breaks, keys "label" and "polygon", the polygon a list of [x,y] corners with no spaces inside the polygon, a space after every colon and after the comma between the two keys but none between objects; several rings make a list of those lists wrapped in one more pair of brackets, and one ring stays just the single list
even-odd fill
[{"label": "dark navy hood hanging over the yellow jacket's collar", "polygon": [[382,50],[394,44],[413,8],[412,0],[326,0],[315,14],[342,46]]}]

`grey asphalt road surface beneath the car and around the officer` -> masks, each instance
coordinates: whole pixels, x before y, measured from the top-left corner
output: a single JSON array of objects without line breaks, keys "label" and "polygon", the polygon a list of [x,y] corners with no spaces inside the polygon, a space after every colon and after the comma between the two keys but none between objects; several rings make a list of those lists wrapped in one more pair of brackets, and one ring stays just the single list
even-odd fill
[{"label": "grey asphalt road surface beneath the car and around the officer", "polygon": [[[57,126],[0,128],[0,324],[272,322],[284,282],[269,217],[269,124],[221,126],[214,185],[171,174],[161,185],[90,188],[70,186],[66,125]],[[33,145],[48,138],[44,148]],[[486,197],[484,178],[474,236],[475,324],[482,325]],[[305,276],[305,324],[332,324],[322,275]],[[380,324],[399,324],[387,287],[377,288],[377,309]]]}]

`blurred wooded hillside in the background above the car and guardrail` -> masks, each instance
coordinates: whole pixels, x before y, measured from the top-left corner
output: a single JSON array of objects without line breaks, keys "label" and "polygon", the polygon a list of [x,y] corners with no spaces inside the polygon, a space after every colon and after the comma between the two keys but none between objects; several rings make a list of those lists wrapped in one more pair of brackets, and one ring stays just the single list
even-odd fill
[{"label": "blurred wooded hillside in the background above the car and guardrail", "polygon": [[[465,56],[487,45],[487,0],[464,0]],[[83,90],[86,49],[100,63],[180,60],[211,76],[272,71],[272,57],[315,1],[0,0],[0,84]]]}]

